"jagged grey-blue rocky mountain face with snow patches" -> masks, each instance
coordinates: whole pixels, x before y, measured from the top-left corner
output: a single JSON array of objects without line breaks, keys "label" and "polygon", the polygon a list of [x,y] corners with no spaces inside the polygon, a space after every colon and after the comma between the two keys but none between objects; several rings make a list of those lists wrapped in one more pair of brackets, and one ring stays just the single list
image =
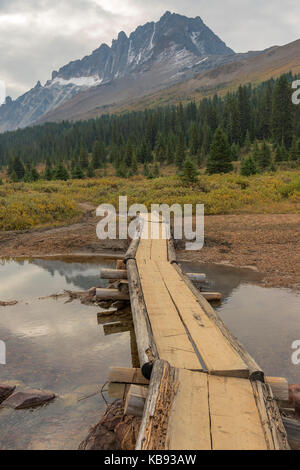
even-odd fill
[{"label": "jagged grey-blue rocky mountain face with snow patches", "polygon": [[[234,60],[234,52],[201,20],[166,12],[158,22],[120,32],[111,47],[70,62],[0,107],[0,131],[43,120],[74,119],[78,106],[105,107],[144,96]],[[56,113],[56,110],[58,111]]]}]

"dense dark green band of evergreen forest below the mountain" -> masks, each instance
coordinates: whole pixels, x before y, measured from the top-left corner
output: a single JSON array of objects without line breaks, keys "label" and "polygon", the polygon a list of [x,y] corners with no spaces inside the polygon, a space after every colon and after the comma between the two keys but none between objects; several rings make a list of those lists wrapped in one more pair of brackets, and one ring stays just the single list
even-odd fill
[{"label": "dense dark green band of evergreen forest below the mountain", "polygon": [[[300,163],[300,106],[292,104],[291,73],[257,87],[240,86],[225,97],[199,105],[169,106],[76,123],[49,123],[0,135],[0,166],[12,181],[35,181],[45,164],[47,180],[93,177],[108,163],[126,177],[143,164],[159,175],[160,164],[175,164],[195,178],[197,166],[226,173],[240,158],[241,172],[274,169],[283,161]],[[249,153],[249,151],[251,152]],[[274,157],[275,155],[275,157]]]}]

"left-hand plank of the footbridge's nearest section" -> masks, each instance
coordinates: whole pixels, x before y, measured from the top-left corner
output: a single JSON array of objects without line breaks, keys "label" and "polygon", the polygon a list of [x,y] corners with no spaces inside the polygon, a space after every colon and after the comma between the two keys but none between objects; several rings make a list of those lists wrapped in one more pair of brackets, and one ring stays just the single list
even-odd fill
[{"label": "left-hand plank of the footbridge's nearest section", "polygon": [[170,406],[166,449],[211,450],[208,375],[176,370],[177,391]]}]

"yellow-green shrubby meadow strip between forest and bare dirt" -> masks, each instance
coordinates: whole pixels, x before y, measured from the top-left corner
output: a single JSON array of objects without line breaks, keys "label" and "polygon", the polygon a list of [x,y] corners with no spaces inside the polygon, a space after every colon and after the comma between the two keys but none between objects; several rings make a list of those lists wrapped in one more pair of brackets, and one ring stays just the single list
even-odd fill
[{"label": "yellow-green shrubby meadow strip between forest and bare dirt", "polygon": [[204,204],[206,215],[240,213],[297,213],[300,210],[300,171],[277,171],[243,177],[237,173],[200,174],[184,184],[175,171],[163,176],[129,179],[115,176],[84,180],[4,183],[0,186],[0,230],[27,230],[70,224],[80,219],[78,203],[118,207],[128,204]]}]

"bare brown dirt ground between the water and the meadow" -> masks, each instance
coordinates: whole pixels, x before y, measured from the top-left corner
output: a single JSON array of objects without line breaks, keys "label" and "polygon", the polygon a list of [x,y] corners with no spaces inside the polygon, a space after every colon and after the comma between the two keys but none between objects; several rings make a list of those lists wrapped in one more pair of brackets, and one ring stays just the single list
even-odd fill
[{"label": "bare brown dirt ground between the water and the meadow", "polygon": [[[100,241],[94,208],[82,205],[84,218],[67,227],[0,233],[0,256],[125,251],[124,240]],[[179,251],[186,260],[250,266],[265,274],[266,286],[300,289],[300,214],[221,215],[205,220],[200,252]]]}]

